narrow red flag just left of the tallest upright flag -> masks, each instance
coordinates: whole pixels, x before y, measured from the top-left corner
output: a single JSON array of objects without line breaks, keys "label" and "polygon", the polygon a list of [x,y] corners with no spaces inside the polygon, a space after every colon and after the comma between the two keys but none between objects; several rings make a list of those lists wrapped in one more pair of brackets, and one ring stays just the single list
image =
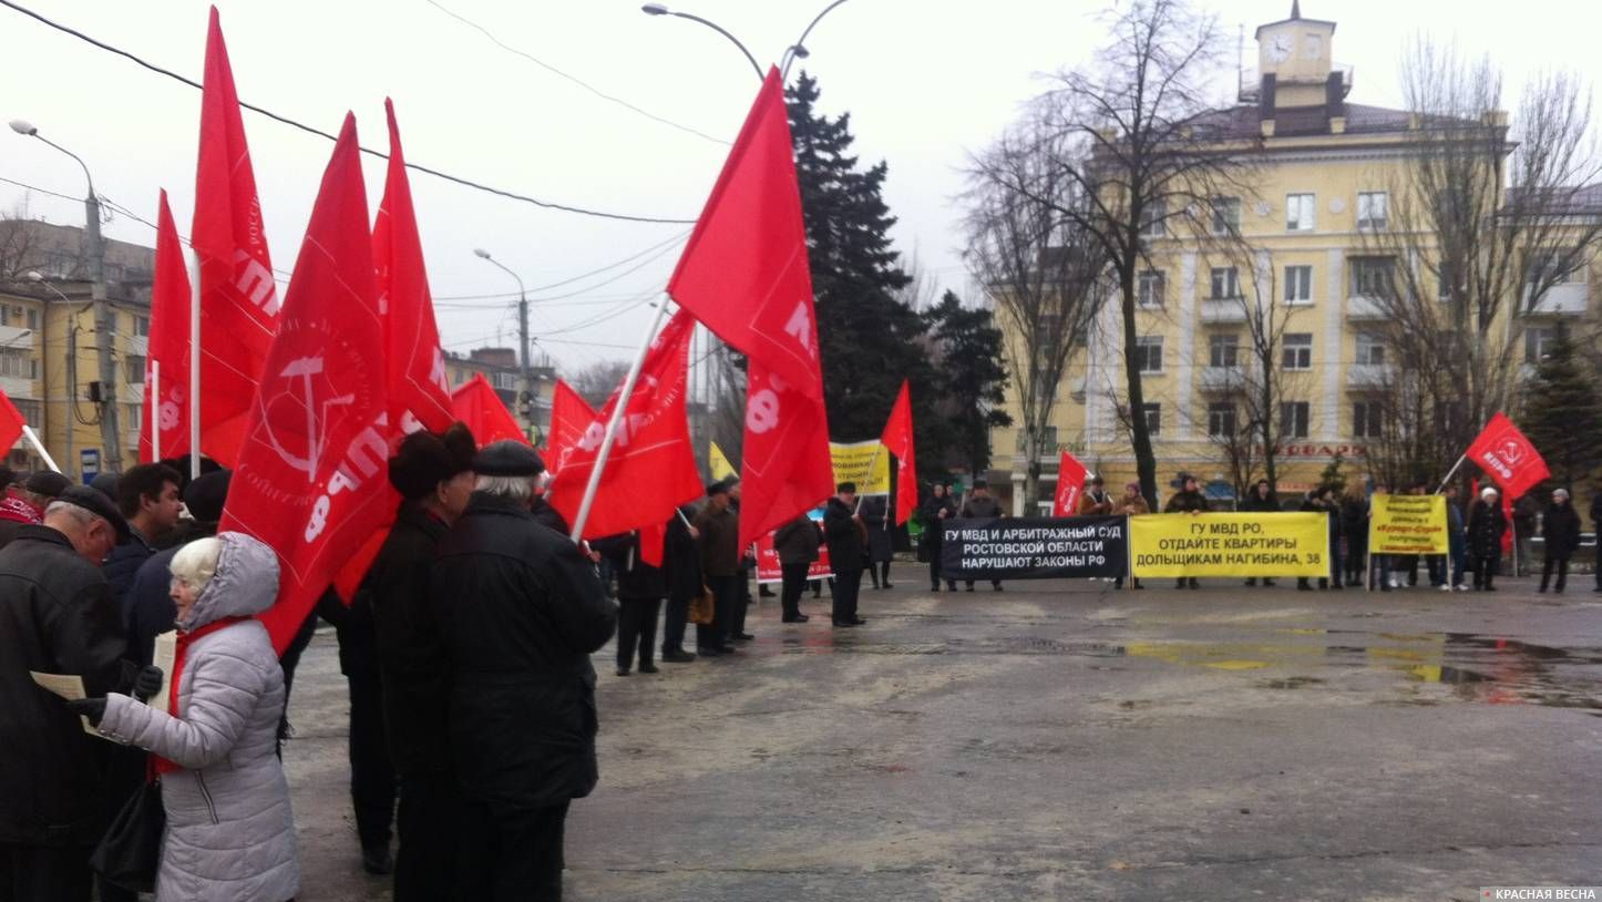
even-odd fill
[{"label": "narrow red flag just left of the tallest upright flag", "polygon": [[[167,207],[167,191],[162,191],[155,213],[155,282],[151,285],[151,336],[144,356],[139,463],[154,463],[155,450],[163,458],[189,453],[189,301],[184,245]],[[160,397],[152,397],[152,389],[160,391]],[[159,449],[152,444],[155,428],[162,429]]]}]

